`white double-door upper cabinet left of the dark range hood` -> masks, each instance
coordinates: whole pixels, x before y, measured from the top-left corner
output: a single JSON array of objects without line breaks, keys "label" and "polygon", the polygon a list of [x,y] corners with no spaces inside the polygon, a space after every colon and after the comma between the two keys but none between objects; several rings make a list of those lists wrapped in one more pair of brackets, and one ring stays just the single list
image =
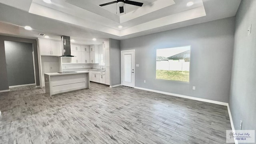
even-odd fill
[{"label": "white double-door upper cabinet left of the dark range hood", "polygon": [[42,56],[61,56],[61,42],[38,39],[38,43]]}]

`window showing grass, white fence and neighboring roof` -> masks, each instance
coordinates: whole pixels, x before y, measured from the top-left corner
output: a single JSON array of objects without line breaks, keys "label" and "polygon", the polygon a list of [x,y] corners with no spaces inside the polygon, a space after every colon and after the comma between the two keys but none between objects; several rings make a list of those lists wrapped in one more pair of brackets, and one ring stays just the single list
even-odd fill
[{"label": "window showing grass, white fence and neighboring roof", "polygon": [[156,50],[156,79],[189,82],[190,46]]}]

